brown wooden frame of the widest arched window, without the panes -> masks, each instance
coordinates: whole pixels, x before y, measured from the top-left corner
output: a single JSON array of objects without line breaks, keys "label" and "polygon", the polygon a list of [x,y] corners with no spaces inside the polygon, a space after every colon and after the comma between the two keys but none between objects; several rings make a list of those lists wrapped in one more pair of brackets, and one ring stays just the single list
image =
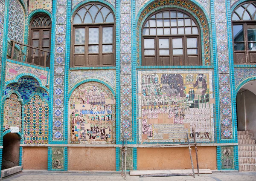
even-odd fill
[{"label": "brown wooden frame of the widest arched window, without the panes", "polygon": [[[145,27],[145,24],[148,22],[149,19],[151,19],[151,17],[153,15],[156,16],[157,13],[159,12],[163,12],[163,11],[176,11],[176,15],[177,15],[177,12],[183,12],[184,14],[188,15],[189,17],[183,17],[183,26],[178,26],[178,24],[176,26],[171,26],[171,22],[170,22],[170,26],[153,26],[154,28],[156,28],[156,31],[157,31],[157,28],[170,28],[170,34],[161,34],[161,35],[143,35],[143,30],[144,30],[144,27]],[[162,18],[158,18],[158,17],[155,17],[154,20],[157,20],[157,19],[162,19],[162,20],[165,20],[165,19],[169,19],[169,20],[172,20],[172,19],[180,19],[181,17],[176,17],[176,18],[165,18],[165,17],[162,17]],[[190,26],[185,26],[185,19],[188,19],[190,18],[191,19],[191,25]],[[193,26],[192,25],[192,21],[194,21],[195,25]],[[185,27],[191,27],[191,32],[192,32],[192,27],[197,27],[198,28],[198,34],[185,34]],[[178,28],[184,28],[184,34],[171,34],[171,28],[177,28],[177,31],[178,31]],[[150,31],[150,25],[148,27],[148,30]],[[195,20],[195,18],[187,13],[186,11],[182,11],[180,9],[162,9],[160,11],[156,11],[154,12],[154,14],[151,14],[146,20],[145,22],[143,23],[143,26],[142,26],[142,31],[141,31],[141,37],[142,37],[142,66],[189,66],[189,62],[188,62],[188,59],[189,57],[192,57],[192,56],[197,56],[198,57],[198,61],[195,64],[193,64],[192,66],[201,66],[202,65],[202,59],[201,59],[201,30],[200,30],[200,26],[198,25],[197,21]],[[160,49],[159,49],[159,45],[158,45],[158,40],[160,38],[169,38],[169,55],[160,55]],[[182,41],[183,41],[183,54],[182,55],[173,55],[173,46],[172,46],[172,39],[173,38],[182,38]],[[197,54],[192,54],[192,55],[188,55],[187,54],[187,50],[188,49],[192,49],[192,48],[187,48],[187,43],[186,43],[186,40],[187,38],[197,38],[197,49],[198,49],[198,53]],[[145,46],[144,46],[144,39],[154,39],[154,43],[155,43],[155,55],[152,56],[152,55],[145,55],[144,54],[144,50],[145,50]],[[151,65],[151,64],[147,64],[146,62],[146,57],[155,57],[155,63],[154,65]],[[163,63],[163,61],[161,60],[160,57],[169,57],[169,63]],[[174,60],[174,57],[183,57],[183,60],[180,61],[179,64],[175,63],[176,60]],[[153,61],[152,61],[153,62]]]}]

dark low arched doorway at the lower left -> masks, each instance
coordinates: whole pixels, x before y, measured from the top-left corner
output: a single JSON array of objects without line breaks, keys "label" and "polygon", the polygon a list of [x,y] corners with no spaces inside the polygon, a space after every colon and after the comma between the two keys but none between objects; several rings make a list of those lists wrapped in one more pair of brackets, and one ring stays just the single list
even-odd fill
[{"label": "dark low arched doorway at the lower left", "polygon": [[20,137],[15,133],[3,136],[2,170],[19,166]]}]

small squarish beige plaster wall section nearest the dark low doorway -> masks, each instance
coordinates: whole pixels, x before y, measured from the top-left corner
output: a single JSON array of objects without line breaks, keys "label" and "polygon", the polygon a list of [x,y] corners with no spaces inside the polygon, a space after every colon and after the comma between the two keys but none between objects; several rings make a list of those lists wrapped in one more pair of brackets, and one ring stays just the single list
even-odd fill
[{"label": "small squarish beige plaster wall section nearest the dark low doorway", "polygon": [[47,147],[23,147],[22,168],[24,170],[47,170]]}]

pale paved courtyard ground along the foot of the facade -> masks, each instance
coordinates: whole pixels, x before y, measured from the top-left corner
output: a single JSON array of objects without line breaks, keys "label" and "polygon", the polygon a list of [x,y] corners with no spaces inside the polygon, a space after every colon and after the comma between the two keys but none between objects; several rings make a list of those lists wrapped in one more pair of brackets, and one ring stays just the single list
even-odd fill
[{"label": "pale paved courtyard ground along the foot of the facade", "polygon": [[[120,174],[20,173],[3,181],[122,181]],[[256,181],[256,172],[215,172],[200,176],[139,178],[127,175],[127,181]]]}]

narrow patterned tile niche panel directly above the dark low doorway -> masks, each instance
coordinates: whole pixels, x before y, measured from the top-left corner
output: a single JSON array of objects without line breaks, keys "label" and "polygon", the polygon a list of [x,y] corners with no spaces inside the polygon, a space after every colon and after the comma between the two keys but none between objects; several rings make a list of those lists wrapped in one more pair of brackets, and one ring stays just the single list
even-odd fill
[{"label": "narrow patterned tile niche panel directly above the dark low doorway", "polygon": [[[10,129],[10,126],[18,127],[21,129],[21,103],[17,98],[17,95],[11,94],[10,98],[7,98],[3,107],[3,131]],[[21,131],[21,130],[20,130]]]}]

